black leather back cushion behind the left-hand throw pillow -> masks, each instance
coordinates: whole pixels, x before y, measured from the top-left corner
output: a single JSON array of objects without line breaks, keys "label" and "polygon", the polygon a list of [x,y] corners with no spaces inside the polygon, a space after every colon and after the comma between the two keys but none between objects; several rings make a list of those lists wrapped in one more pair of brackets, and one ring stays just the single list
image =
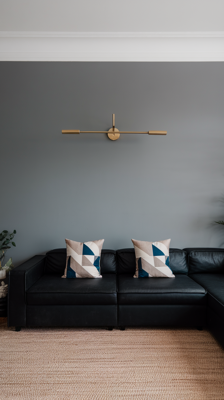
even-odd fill
[{"label": "black leather back cushion behind the left-hand throw pillow", "polygon": [[[46,253],[45,274],[61,274],[65,272],[66,248],[54,249]],[[116,274],[117,259],[115,250],[101,250],[100,273]]]}]

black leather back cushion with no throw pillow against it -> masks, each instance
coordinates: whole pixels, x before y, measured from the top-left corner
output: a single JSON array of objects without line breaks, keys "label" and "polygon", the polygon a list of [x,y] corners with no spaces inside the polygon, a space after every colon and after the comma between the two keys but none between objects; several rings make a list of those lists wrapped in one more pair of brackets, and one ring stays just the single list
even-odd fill
[{"label": "black leather back cushion with no throw pillow against it", "polygon": [[187,254],[188,274],[223,274],[224,249],[190,247]]}]

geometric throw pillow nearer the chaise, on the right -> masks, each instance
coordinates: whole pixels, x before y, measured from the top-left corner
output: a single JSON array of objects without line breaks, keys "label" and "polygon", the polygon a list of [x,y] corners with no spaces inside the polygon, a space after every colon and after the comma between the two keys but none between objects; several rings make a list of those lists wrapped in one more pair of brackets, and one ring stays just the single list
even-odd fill
[{"label": "geometric throw pillow nearer the chaise, on the right", "polygon": [[175,278],[169,263],[170,239],[159,240],[159,242],[131,240],[136,258],[134,278]]}]

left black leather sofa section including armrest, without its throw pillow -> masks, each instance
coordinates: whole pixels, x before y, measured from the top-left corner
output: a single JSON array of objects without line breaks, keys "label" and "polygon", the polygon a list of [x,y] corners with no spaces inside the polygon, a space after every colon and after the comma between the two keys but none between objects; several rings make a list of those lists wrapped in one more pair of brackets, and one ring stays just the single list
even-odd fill
[{"label": "left black leather sofa section including armrest, without its throw pillow", "polygon": [[66,248],[35,256],[14,268],[10,272],[8,325],[116,326],[115,253],[102,250],[102,278],[61,278]]}]

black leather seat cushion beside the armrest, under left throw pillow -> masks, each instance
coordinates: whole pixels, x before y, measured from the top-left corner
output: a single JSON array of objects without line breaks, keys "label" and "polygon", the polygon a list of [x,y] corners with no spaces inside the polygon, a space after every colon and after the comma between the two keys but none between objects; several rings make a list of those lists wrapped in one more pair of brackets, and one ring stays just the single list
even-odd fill
[{"label": "black leather seat cushion beside the armrest, under left throw pillow", "polygon": [[49,274],[26,291],[26,302],[29,305],[117,304],[116,291],[115,274],[105,274],[101,279],[64,279],[60,274]]}]

